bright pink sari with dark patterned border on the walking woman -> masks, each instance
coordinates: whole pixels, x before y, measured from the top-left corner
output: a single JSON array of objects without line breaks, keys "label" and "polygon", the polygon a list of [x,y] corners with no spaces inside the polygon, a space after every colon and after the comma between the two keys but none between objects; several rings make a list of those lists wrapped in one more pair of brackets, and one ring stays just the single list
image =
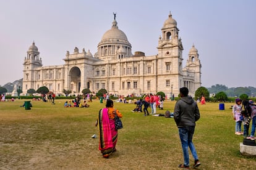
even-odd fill
[{"label": "bright pink sari with dark patterned border on the walking woman", "polygon": [[117,131],[114,127],[114,119],[109,119],[108,108],[101,109],[98,117],[99,150],[104,158],[108,158],[116,150]]}]

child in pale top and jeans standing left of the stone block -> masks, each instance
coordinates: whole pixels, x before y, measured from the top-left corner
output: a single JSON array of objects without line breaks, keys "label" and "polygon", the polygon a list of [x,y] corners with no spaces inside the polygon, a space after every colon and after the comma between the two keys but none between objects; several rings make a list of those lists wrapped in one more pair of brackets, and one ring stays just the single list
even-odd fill
[{"label": "child in pale top and jeans standing left of the stone block", "polygon": [[236,99],[236,105],[233,106],[233,118],[236,121],[236,135],[242,135],[244,134],[241,131],[241,126],[242,126],[242,120],[241,120],[241,111],[242,111],[242,100],[241,99]]}]

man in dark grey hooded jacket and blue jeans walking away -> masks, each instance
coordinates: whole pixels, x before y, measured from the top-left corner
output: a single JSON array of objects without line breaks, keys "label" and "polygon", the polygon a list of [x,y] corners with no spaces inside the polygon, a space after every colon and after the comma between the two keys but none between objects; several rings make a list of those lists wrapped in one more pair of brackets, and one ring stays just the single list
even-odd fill
[{"label": "man in dark grey hooded jacket and blue jeans walking away", "polygon": [[200,118],[200,113],[197,103],[192,97],[188,97],[189,89],[182,87],[179,92],[181,100],[177,101],[174,107],[174,120],[179,128],[179,137],[184,156],[184,164],[180,164],[179,168],[189,169],[189,148],[195,160],[193,167],[196,168],[201,163],[198,160],[192,138],[195,131],[195,121]]}]

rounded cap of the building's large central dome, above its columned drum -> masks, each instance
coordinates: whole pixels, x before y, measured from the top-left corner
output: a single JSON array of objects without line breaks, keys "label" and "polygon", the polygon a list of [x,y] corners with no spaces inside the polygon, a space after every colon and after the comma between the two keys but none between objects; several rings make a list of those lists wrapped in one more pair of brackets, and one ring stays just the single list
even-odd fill
[{"label": "rounded cap of the building's large central dome, above its columned drum", "polygon": [[118,29],[116,20],[113,21],[113,26],[110,30],[106,31],[105,34],[103,34],[101,41],[105,41],[108,39],[123,39],[128,41],[126,34],[124,34],[123,31]]}]

